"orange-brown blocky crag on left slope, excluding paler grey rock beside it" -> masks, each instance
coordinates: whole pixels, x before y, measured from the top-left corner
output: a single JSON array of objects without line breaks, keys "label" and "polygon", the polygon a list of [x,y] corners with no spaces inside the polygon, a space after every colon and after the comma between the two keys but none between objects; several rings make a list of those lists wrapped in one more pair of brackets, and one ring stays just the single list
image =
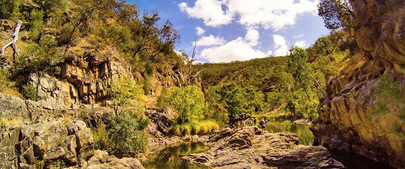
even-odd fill
[{"label": "orange-brown blocky crag on left slope, excluding paler grey rock beside it", "polygon": [[[81,47],[85,48],[85,47]],[[103,83],[116,78],[132,78],[130,67],[122,66],[118,53],[113,49],[84,52],[83,55],[71,54],[62,66],[62,78],[69,85],[70,98],[82,103],[93,104],[106,96]]]}]

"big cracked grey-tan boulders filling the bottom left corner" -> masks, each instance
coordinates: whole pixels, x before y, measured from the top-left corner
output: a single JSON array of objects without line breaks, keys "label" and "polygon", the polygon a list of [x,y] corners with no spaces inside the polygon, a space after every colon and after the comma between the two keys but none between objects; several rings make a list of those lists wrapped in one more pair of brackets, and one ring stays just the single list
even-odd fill
[{"label": "big cracked grey-tan boulders filling the bottom left corner", "polygon": [[0,131],[1,169],[143,169],[135,158],[94,151],[90,128],[83,121],[17,125]]}]

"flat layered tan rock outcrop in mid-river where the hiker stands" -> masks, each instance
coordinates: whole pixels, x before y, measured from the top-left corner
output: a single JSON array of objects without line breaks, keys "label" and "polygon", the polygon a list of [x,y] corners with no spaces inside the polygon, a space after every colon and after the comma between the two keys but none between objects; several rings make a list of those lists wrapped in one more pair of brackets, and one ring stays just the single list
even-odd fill
[{"label": "flat layered tan rock outcrop in mid-river where the hiker stands", "polygon": [[211,150],[190,154],[184,160],[215,169],[344,168],[326,148],[297,145],[291,133],[262,133],[257,126],[224,128],[210,135]]}]

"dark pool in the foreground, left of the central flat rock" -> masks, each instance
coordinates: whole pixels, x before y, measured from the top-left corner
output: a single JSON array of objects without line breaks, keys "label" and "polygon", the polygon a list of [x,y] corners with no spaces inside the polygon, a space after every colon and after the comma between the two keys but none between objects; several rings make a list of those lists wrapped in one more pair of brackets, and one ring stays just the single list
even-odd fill
[{"label": "dark pool in the foreground, left of the central flat rock", "polygon": [[182,143],[179,146],[165,148],[161,152],[151,156],[142,165],[145,169],[203,169],[201,166],[183,161],[181,157],[207,150],[209,150],[209,147],[203,143]]}]

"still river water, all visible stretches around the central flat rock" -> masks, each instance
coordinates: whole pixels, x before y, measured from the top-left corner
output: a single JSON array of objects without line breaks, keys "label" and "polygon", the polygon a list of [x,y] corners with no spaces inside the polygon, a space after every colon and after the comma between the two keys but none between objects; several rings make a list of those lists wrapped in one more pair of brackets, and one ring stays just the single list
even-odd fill
[{"label": "still river water, all visible stretches around the central flat rock", "polygon": [[[257,125],[257,124],[256,124]],[[299,138],[299,144],[312,145],[313,134],[309,126],[305,124],[296,124],[290,120],[285,121],[267,121],[266,130],[269,133],[291,132],[296,133]],[[151,156],[148,161],[142,165],[145,169],[204,169],[200,165],[193,165],[185,162],[181,157],[188,154],[200,153],[209,150],[209,147],[203,143],[181,143],[172,147],[165,148],[157,154]],[[332,151],[332,157],[337,159],[347,169],[390,169],[386,165],[376,163],[372,160],[360,157],[356,154],[346,152]]]}]

